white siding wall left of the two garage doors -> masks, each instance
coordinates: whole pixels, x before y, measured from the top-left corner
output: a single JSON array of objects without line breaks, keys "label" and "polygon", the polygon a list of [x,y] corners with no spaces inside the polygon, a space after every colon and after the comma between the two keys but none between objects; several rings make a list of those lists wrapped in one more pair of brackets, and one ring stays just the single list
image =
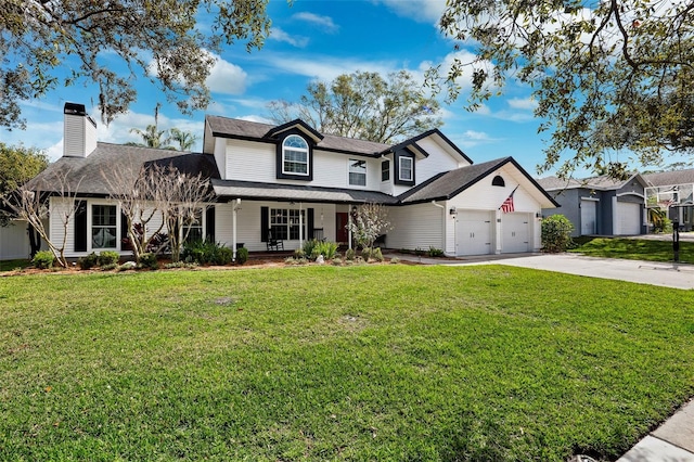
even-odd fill
[{"label": "white siding wall left of the two garage doors", "polygon": [[444,249],[444,213],[445,209],[432,203],[415,204],[404,207],[389,207],[388,219],[394,228],[388,231],[386,246],[388,248]]}]

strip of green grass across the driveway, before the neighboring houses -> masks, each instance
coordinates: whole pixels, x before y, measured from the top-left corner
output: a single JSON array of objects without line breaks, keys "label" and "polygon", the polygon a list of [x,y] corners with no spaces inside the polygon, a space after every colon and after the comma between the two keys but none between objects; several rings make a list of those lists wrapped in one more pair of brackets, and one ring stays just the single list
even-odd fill
[{"label": "strip of green grass across the driveway, before the neighboring houses", "polygon": [[[672,240],[656,241],[621,238],[578,238],[576,252],[591,257],[626,258],[646,261],[672,261]],[[680,262],[694,264],[694,242],[680,241]]]}]

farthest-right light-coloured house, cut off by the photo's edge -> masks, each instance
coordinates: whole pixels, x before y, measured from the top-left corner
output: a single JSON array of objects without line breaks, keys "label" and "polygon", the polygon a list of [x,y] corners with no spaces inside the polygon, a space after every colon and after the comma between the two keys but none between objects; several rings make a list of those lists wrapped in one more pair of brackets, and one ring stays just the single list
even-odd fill
[{"label": "farthest-right light-coloured house, cut off by the photo's edge", "polygon": [[681,231],[694,230],[694,168],[645,174],[643,179],[646,204],[667,204],[668,218],[679,222]]}]

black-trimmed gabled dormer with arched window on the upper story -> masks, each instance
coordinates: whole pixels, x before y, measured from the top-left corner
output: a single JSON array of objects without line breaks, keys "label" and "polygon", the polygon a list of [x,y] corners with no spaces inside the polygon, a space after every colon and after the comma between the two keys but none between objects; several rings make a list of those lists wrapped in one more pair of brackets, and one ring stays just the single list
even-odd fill
[{"label": "black-trimmed gabled dormer with arched window on the upper story", "polygon": [[313,180],[313,149],[323,139],[304,120],[273,127],[265,137],[277,141],[275,177],[282,180]]}]

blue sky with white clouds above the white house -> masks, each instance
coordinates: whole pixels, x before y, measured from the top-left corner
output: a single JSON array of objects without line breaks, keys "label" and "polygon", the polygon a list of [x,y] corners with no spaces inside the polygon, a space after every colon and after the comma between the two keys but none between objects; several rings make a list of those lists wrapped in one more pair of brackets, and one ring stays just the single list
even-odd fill
[{"label": "blue sky with white clouds above the white house", "polygon": [[[108,126],[99,119],[97,88],[77,85],[50,91],[22,103],[27,129],[0,129],[0,141],[44,149],[55,161],[63,149],[63,106],[81,103],[98,121],[99,141],[141,141],[131,128],[144,130],[159,110],[159,128],[177,127],[198,137],[193,151],[202,150],[206,114],[272,123],[267,104],[273,100],[298,101],[314,80],[331,81],[357,70],[383,75],[408,70],[423,80],[433,65],[450,63],[472,50],[453,50],[453,42],[437,27],[445,0],[270,0],[270,37],[260,50],[247,52],[243,43],[227,46],[208,78],[213,102],[204,112],[182,115],[145,78],[138,79],[139,98],[130,111]],[[532,115],[530,89],[509,80],[502,97],[478,111],[465,110],[468,82],[452,104],[442,104],[440,130],[475,163],[513,156],[531,176],[543,162],[540,124]],[[441,97],[442,99],[442,97]],[[541,176],[551,175],[553,171]],[[577,172],[580,175],[580,172]],[[586,172],[588,176],[588,172]]]}]

